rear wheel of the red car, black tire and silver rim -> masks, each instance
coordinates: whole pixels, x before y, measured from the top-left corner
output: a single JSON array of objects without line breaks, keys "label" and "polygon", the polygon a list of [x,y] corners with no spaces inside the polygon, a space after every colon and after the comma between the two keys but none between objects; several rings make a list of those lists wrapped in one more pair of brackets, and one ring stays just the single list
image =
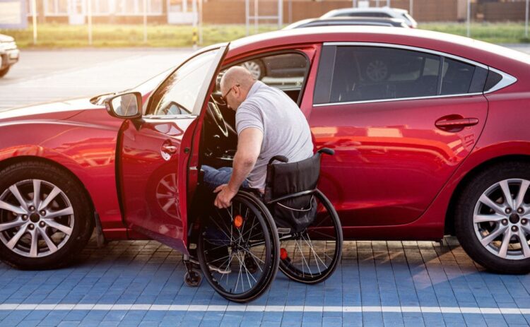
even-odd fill
[{"label": "rear wheel of the red car, black tire and silver rim", "polygon": [[529,185],[528,162],[502,162],[478,173],[461,193],[457,238],[474,261],[492,272],[530,272]]}]

